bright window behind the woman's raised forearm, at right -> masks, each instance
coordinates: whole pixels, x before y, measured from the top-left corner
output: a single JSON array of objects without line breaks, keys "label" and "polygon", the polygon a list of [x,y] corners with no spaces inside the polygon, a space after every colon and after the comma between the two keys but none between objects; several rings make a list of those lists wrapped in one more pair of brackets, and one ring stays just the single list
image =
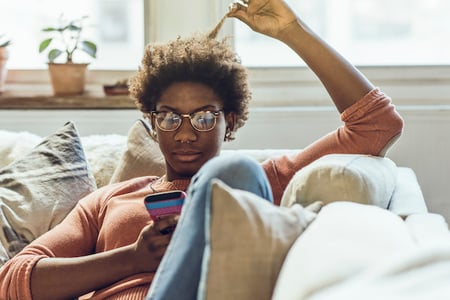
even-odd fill
[{"label": "bright window behind the woman's raised forearm, at right", "polygon": [[[315,32],[356,65],[450,64],[448,0],[288,2]],[[268,42],[241,22],[235,23],[234,34],[237,51],[248,66],[302,65],[286,46]]]}]

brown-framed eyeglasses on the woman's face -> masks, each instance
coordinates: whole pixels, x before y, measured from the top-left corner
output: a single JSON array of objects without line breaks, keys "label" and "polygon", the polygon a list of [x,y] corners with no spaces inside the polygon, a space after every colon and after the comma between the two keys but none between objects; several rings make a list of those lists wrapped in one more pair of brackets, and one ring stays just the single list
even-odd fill
[{"label": "brown-framed eyeglasses on the woman's face", "polygon": [[189,118],[192,127],[197,131],[210,131],[216,127],[217,118],[223,110],[200,110],[191,114],[178,114],[173,111],[152,111],[156,126],[162,131],[175,131],[183,122],[183,118]]}]

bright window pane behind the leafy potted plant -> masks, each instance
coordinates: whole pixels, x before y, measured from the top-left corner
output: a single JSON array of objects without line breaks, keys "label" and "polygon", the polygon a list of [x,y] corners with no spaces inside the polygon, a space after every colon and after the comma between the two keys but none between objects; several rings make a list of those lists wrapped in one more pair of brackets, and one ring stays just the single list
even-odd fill
[{"label": "bright window pane behind the leafy potted plant", "polygon": [[38,51],[47,37],[44,27],[87,15],[84,37],[97,44],[90,69],[135,70],[144,47],[142,0],[0,0],[0,33],[13,40],[9,69],[45,69],[47,57]]}]

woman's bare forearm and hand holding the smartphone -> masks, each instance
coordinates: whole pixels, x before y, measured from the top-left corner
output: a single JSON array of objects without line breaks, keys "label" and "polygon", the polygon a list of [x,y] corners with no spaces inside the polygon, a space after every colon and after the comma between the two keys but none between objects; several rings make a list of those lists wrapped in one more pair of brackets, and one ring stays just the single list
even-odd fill
[{"label": "woman's bare forearm and hand holding the smartphone", "polygon": [[[80,257],[44,258],[31,274],[33,299],[69,299],[109,286],[128,276],[155,272],[166,252],[178,216],[145,226],[130,245]],[[79,276],[82,274],[82,276]]]}]

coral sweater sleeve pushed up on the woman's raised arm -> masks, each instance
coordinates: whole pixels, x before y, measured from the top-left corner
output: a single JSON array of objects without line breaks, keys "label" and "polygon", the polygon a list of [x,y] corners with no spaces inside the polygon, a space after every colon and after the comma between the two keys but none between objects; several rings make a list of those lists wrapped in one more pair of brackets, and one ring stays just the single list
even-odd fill
[{"label": "coral sweater sleeve pushed up on the woman's raised arm", "polygon": [[283,191],[294,174],[314,160],[331,153],[384,156],[403,129],[402,117],[391,99],[378,88],[347,108],[341,114],[341,120],[344,126],[316,140],[299,153],[263,163],[275,204],[279,205]]}]

